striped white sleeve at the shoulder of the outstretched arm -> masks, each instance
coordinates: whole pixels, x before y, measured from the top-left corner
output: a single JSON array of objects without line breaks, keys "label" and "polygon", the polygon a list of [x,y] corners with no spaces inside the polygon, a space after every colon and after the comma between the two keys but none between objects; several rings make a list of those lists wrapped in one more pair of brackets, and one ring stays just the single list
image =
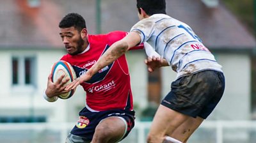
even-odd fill
[{"label": "striped white sleeve at the shoulder of the outstretched arm", "polygon": [[143,19],[140,20],[137,24],[132,26],[131,32],[136,32],[140,35],[141,41],[140,43],[143,43],[147,41],[152,33],[154,33],[154,28],[155,28],[155,22],[150,21],[149,19]]}]

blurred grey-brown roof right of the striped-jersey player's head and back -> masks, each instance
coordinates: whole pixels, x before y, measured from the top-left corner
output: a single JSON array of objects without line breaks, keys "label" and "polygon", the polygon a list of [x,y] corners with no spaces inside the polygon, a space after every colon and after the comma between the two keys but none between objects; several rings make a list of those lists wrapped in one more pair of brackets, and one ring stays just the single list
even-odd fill
[{"label": "blurred grey-brown roof right of the striped-jersey player's head and back", "polygon": [[188,1],[167,1],[167,13],[191,26],[202,38],[205,46],[213,49],[256,48],[252,33],[249,33],[222,3],[216,8],[208,8],[200,0],[195,0],[197,3],[187,4]]}]

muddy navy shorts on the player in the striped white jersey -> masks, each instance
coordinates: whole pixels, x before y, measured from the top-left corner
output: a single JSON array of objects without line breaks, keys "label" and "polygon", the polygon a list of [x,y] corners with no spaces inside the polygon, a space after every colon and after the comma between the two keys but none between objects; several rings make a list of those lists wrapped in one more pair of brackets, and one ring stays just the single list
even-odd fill
[{"label": "muddy navy shorts on the player in the striped white jersey", "polygon": [[191,117],[206,119],[216,107],[225,89],[223,73],[205,70],[180,77],[161,105]]}]

